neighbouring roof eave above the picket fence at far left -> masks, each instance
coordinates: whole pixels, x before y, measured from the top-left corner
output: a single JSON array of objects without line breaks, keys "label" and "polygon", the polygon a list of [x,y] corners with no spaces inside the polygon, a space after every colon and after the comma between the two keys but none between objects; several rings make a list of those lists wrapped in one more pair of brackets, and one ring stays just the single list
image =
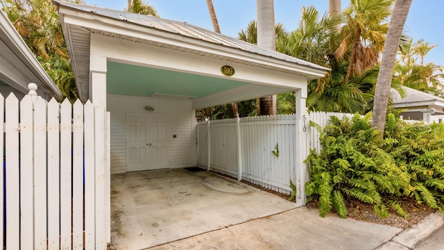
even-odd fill
[{"label": "neighbouring roof eave above the picket fence at far left", "polygon": [[37,84],[37,93],[44,98],[62,99],[56,84],[0,10],[0,85],[10,85],[27,94],[28,83]]}]

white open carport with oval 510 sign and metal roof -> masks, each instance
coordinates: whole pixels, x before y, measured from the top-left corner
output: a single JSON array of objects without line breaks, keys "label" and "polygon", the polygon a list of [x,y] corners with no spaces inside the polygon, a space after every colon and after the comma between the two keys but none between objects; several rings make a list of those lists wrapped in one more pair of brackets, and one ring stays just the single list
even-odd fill
[{"label": "white open carport with oval 510 sign and metal roof", "polygon": [[[328,70],[186,22],[53,3],[80,99],[103,110],[103,134],[97,130],[96,140],[105,142],[108,153],[96,160],[104,160],[108,168],[96,170],[96,180],[103,181],[103,192],[96,196],[103,194],[108,204],[110,174],[196,166],[197,108],[296,91],[300,135],[307,80]],[[307,169],[302,141],[294,153],[296,176],[289,178],[298,188],[298,205],[303,205]],[[108,242],[109,211],[104,215]]]}]

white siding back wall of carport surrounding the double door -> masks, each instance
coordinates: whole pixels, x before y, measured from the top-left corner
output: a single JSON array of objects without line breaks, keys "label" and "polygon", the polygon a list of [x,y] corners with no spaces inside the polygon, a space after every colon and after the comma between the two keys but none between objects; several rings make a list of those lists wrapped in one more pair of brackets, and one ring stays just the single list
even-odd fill
[{"label": "white siding back wall of carport surrounding the double door", "polygon": [[108,94],[107,103],[111,113],[111,174],[126,172],[126,114],[148,113],[145,106],[154,108],[150,113],[169,115],[169,167],[196,165],[196,122],[191,101]]}]

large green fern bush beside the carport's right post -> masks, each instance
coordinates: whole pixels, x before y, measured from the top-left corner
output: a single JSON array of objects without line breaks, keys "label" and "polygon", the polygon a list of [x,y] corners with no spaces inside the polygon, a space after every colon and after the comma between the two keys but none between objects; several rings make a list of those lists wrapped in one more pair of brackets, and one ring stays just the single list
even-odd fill
[{"label": "large green fern bush beside the carport's right post", "polygon": [[444,212],[443,126],[407,124],[388,114],[382,138],[370,117],[330,117],[325,128],[310,122],[322,149],[312,150],[306,160],[308,200],[318,199],[322,217],[332,208],[347,217],[345,201],[352,199],[373,205],[380,217],[388,216],[390,207],[407,218],[401,198]]}]

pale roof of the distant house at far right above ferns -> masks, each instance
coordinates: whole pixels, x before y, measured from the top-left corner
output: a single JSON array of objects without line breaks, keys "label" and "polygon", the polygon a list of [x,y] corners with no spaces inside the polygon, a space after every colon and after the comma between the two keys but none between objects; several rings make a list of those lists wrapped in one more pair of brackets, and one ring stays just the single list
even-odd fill
[{"label": "pale roof of the distant house at far right above ferns", "polygon": [[443,113],[443,98],[404,86],[402,86],[402,90],[404,90],[404,98],[401,97],[398,91],[391,90],[394,108],[408,108],[409,110],[414,108],[435,108],[436,115]]}]

